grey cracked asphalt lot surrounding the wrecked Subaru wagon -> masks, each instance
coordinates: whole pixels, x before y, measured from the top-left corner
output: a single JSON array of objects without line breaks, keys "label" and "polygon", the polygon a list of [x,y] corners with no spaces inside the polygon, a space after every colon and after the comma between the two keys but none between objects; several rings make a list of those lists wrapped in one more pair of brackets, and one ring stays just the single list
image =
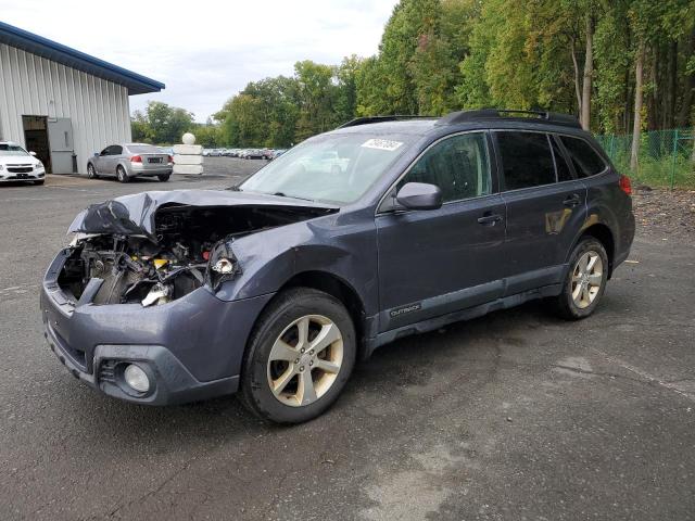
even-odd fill
[{"label": "grey cracked asphalt lot surrounding the wrecked Subaru wagon", "polygon": [[77,382],[38,308],[75,214],[228,187],[262,164],[0,187],[0,519],[692,519],[690,231],[639,230],[587,320],[532,303],[397,341],[299,427],[264,424],[233,397],[149,408]]}]

